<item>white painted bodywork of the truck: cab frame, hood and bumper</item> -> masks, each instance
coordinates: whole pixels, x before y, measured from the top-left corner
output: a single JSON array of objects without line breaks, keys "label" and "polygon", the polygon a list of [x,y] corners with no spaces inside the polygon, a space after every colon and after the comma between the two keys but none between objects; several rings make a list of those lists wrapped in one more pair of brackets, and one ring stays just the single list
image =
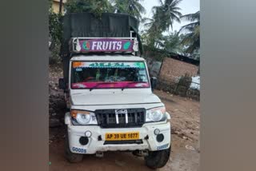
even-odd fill
[{"label": "white painted bodywork of the truck: cab frame, hood and bumper", "polygon": [[[77,55],[70,59],[70,68],[72,62],[76,61],[145,62],[146,66],[146,60],[144,58],[121,54]],[[147,77],[149,77],[147,66],[146,74]],[[70,109],[94,112],[97,109],[153,109],[164,106],[162,101],[152,92],[150,87],[127,89],[71,89],[70,83],[71,72],[68,83],[68,98],[66,99]],[[168,113],[166,114],[169,115]],[[66,113],[65,123],[68,129],[68,139],[72,153],[97,153],[116,150],[133,151],[136,149],[155,151],[168,149],[170,147],[171,134],[169,119],[166,121],[144,123],[142,127],[135,128],[101,128],[99,125],[72,125],[72,122],[70,121],[70,113]],[[154,129],[159,129],[160,133],[164,135],[165,138],[162,142],[156,140]],[[88,130],[92,133],[90,141],[87,145],[81,145],[79,143],[79,138],[85,136],[85,132]],[[122,144],[121,141],[121,144],[118,145],[104,145],[106,133],[127,133],[134,131],[139,132],[139,139],[142,140],[142,144]],[[99,136],[102,137],[101,141],[98,140]]]}]

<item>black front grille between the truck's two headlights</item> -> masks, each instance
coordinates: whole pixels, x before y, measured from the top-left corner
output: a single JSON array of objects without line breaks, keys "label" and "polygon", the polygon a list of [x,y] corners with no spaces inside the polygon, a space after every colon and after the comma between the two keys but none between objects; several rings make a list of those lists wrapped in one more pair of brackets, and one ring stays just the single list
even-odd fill
[{"label": "black front grille between the truck's two headlights", "polygon": [[127,109],[126,113],[118,114],[118,123],[115,109],[98,109],[95,110],[98,125],[102,128],[129,128],[141,127],[145,122],[145,109]]}]

